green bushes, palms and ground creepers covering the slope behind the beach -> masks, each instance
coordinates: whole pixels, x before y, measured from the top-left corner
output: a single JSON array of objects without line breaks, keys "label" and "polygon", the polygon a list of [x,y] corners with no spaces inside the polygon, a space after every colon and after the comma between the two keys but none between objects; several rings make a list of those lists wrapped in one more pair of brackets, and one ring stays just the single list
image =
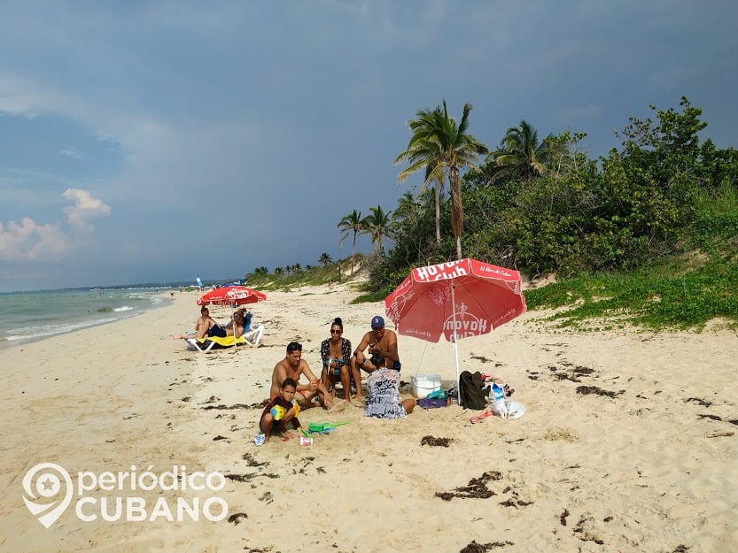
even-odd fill
[{"label": "green bushes, palms and ground creepers covering the slope behind the beach", "polygon": [[[540,141],[523,120],[490,150],[468,134],[469,105],[458,126],[445,103],[418,111],[395,161],[409,164],[400,181],[424,172],[423,187],[392,210],[377,206],[363,219],[353,211],[338,223],[341,242],[353,237],[350,259],[356,237],[371,237],[373,251],[361,257],[367,299],[384,298],[412,267],[463,252],[533,280],[553,275],[525,297],[530,309],[556,308],[562,326],[736,326],[738,150],[702,140],[702,110],[685,97],[679,109],[650,110],[628,119],[619,147],[597,159],[581,148],[585,134]],[[358,265],[315,271],[338,280],[337,264]],[[281,278],[296,279],[292,269]]]}]

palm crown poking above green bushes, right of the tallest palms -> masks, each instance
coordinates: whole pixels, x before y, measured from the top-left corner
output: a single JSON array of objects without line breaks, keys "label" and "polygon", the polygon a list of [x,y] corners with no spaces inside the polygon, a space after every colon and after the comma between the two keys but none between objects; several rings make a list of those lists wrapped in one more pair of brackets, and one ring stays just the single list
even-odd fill
[{"label": "palm crown poking above green bushes, right of the tallest palms", "polygon": [[525,120],[520,121],[519,127],[509,127],[500,148],[487,158],[494,163],[492,180],[515,174],[532,180],[546,173],[553,139],[554,135],[548,134],[539,142],[538,131]]}]

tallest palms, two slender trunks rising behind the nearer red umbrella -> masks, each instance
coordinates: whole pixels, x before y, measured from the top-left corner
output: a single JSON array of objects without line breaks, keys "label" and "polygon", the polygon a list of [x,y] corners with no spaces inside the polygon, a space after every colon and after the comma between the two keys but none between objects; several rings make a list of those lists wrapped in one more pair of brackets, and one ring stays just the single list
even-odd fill
[{"label": "tallest palms, two slender trunks rising behind the nearer red umbrella", "polygon": [[448,115],[446,101],[443,107],[433,111],[421,110],[417,112],[418,119],[408,123],[413,132],[408,142],[408,149],[395,158],[394,163],[408,162],[410,165],[400,172],[398,180],[406,180],[412,173],[425,170],[423,189],[431,182],[436,183],[436,228],[437,238],[439,230],[439,196],[440,187],[448,175],[448,188],[451,191],[452,219],[451,226],[456,238],[456,257],[462,258],[462,230],[463,205],[461,190],[462,169],[476,167],[478,156],[485,155],[489,149],[479,142],[472,134],[467,133],[469,128],[469,113],[471,104],[464,104],[462,120],[456,125],[456,120]]}]

